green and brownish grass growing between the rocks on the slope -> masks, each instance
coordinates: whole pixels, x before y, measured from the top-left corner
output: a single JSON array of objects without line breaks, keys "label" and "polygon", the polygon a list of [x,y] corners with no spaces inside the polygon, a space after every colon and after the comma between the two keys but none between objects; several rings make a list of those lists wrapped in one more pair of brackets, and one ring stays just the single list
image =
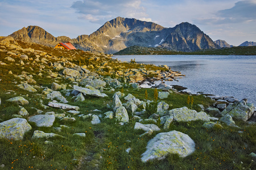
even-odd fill
[{"label": "green and brownish grass growing between the rocks on the slope", "polygon": [[[79,63],[80,61],[82,62],[81,64],[85,64],[85,62],[88,62],[86,59],[93,57],[93,54],[80,50],[56,50],[24,42],[19,42],[19,45],[23,48],[31,47],[36,50],[42,50],[59,58],[62,56],[70,62]],[[35,56],[32,54],[28,54],[28,56],[35,59]],[[0,61],[5,62],[3,59],[5,57],[6,53],[0,52]],[[84,60],[83,58],[86,59]],[[54,59],[49,60],[52,63],[56,62]],[[109,61],[109,58],[103,57],[101,62],[90,60],[90,64],[95,67],[92,71],[100,72],[97,68],[105,61]],[[32,67],[32,62],[30,63]],[[11,63],[8,64],[10,66],[13,65]],[[109,61],[108,65],[112,67],[111,71],[141,68],[141,65],[137,63],[115,63]],[[20,90],[15,86],[26,80],[21,80],[13,75],[20,75],[22,71],[26,71],[27,75],[32,75],[38,86],[50,88],[52,82],[55,81],[59,84],[72,84],[72,82],[65,79],[47,78],[49,70],[55,71],[52,67],[44,65],[45,69],[40,70],[39,66],[33,65],[34,71],[31,71],[28,69],[28,66],[24,66],[24,69],[22,67],[10,66],[1,65],[0,67],[0,97],[2,101],[0,105],[0,121],[9,120],[13,118],[13,114],[18,114],[19,112],[17,104],[8,103],[6,100],[14,96],[23,96],[30,102],[30,104],[24,105],[24,108],[30,113],[29,116],[24,117],[27,120],[29,117],[38,114],[36,109],[34,109],[37,108],[42,109],[44,112],[65,113],[75,117],[76,122],[60,122],[56,118],[53,127],[67,125],[70,128],[62,128],[61,131],[57,131],[53,128],[38,128],[32,125],[32,130],[25,134],[22,141],[0,139],[0,165],[5,165],[2,169],[253,169],[256,167],[255,158],[253,159],[248,156],[251,152],[256,151],[255,125],[247,126],[245,122],[236,121],[236,124],[242,129],[230,128],[226,125],[222,125],[224,128],[205,129],[202,127],[203,121],[172,122],[167,130],[163,130],[163,125],[159,125],[159,128],[162,130],[154,132],[151,136],[139,137],[144,131],[134,130],[136,120],[133,116],[130,116],[129,123],[123,126],[119,125],[114,118],[104,118],[104,113],[112,110],[107,107],[107,104],[112,105],[112,96],[118,90],[114,92],[104,91],[109,96],[104,98],[86,95],[85,101],[82,102],[75,102],[72,95],[66,96],[66,99],[69,101],[68,104],[80,107],[80,114],[92,113],[102,115],[102,118],[100,118],[101,124],[92,125],[90,119],[83,120],[82,117],[73,116],[62,109],[43,109],[40,107],[41,102],[47,105],[50,101],[43,95],[43,89],[39,88],[38,92],[32,93]],[[160,68],[146,65],[146,69],[156,70]],[[13,71],[13,74],[8,74],[10,70]],[[42,77],[38,76],[39,71],[43,73]],[[107,71],[110,72],[109,75],[115,73],[110,70]],[[106,87],[110,88],[109,86]],[[67,88],[72,89],[72,87],[68,86]],[[125,95],[130,93],[143,101],[146,89],[133,90],[133,88],[124,87],[122,91]],[[65,96],[65,91],[61,91],[61,94]],[[155,99],[154,89],[147,89],[147,94],[148,100]],[[213,104],[212,100],[205,98],[203,95],[193,95],[191,97],[193,97],[193,105],[187,103],[187,94],[173,91],[167,99],[158,99],[158,102],[164,101],[169,104],[169,110],[186,106],[200,111],[197,108],[197,104],[203,104],[205,108]],[[126,102],[123,98],[121,101],[122,103]],[[93,112],[94,109],[102,112]],[[142,118],[148,118],[148,116],[142,116]],[[42,130],[45,133],[56,133],[65,138],[32,140],[31,137],[35,130]],[[141,155],[146,151],[147,142],[155,137],[156,134],[171,130],[188,134],[196,143],[196,151],[186,158],[180,158],[177,154],[170,154],[163,160],[152,160],[142,163]],[[243,132],[238,133],[238,131]],[[73,134],[75,133],[85,133],[86,137],[74,137]],[[45,144],[46,140],[51,141],[52,144]],[[127,148],[131,148],[129,153],[126,152]],[[251,160],[254,160],[254,162]]]}]

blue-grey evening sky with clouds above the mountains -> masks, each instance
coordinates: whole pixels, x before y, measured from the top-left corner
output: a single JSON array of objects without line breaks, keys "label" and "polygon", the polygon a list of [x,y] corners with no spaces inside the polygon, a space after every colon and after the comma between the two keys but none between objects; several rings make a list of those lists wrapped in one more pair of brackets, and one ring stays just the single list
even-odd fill
[{"label": "blue-grey evening sky with clouds above the mountains", "polygon": [[256,0],[0,0],[0,36],[37,25],[73,39],[118,16],[167,28],[189,22],[235,46],[256,42]]}]

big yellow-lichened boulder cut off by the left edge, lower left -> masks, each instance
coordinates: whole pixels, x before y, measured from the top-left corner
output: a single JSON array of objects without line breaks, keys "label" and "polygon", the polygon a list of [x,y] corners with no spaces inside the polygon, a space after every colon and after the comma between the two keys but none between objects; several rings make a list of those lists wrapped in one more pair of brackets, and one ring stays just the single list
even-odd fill
[{"label": "big yellow-lichened boulder cut off by the left edge, lower left", "polygon": [[0,138],[22,140],[32,128],[24,118],[12,118],[0,123]]}]

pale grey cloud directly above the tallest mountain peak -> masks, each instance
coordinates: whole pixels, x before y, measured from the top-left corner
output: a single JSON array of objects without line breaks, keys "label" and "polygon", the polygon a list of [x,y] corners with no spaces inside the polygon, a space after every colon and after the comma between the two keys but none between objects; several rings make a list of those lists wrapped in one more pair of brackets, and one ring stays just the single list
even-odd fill
[{"label": "pale grey cloud directly above the tallest mountain peak", "polygon": [[142,1],[144,0],[84,0],[74,2],[71,8],[80,14],[79,19],[89,20],[91,23],[103,24],[117,16],[151,20],[147,18],[148,14],[142,6]]}]

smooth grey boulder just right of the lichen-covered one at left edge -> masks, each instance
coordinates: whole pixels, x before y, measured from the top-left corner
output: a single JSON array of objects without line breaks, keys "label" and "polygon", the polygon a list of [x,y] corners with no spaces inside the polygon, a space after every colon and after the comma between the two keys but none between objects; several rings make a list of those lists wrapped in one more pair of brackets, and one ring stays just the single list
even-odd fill
[{"label": "smooth grey boulder just right of the lichen-covered one at left edge", "polygon": [[53,114],[38,114],[30,117],[28,122],[34,122],[38,127],[51,127],[55,121]]}]

